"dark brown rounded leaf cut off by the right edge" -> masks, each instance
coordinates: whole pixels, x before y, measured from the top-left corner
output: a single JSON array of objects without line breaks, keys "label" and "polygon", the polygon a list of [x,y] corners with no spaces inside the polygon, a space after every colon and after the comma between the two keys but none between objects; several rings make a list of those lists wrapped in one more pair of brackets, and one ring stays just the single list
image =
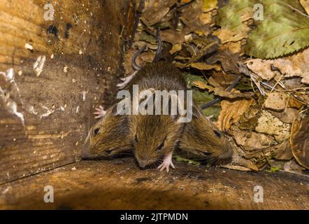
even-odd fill
[{"label": "dark brown rounded leaf cut off by the right edge", "polygon": [[290,137],[291,150],[299,164],[309,169],[309,116],[294,120]]}]

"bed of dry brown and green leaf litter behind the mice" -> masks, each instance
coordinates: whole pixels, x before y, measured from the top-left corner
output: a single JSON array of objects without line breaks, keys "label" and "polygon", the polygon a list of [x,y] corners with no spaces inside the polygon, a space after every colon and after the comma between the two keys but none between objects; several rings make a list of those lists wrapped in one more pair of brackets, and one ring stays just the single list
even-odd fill
[{"label": "bed of dry brown and green leaf litter behind the mice", "polygon": [[[144,3],[142,9],[139,3]],[[254,20],[254,4],[264,6]],[[124,72],[152,62],[161,29],[162,57],[185,74],[199,106],[235,146],[229,169],[309,169],[309,16],[307,1],[142,0]],[[233,90],[227,87],[241,76]],[[192,162],[181,158],[179,161]]]}]

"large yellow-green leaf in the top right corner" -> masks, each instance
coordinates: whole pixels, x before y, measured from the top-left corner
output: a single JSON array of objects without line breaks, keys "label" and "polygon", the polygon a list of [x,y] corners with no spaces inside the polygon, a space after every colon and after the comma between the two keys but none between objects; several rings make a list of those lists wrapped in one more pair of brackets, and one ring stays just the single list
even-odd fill
[{"label": "large yellow-green leaf in the top right corner", "polygon": [[275,58],[309,45],[309,18],[298,1],[260,2],[264,6],[264,20],[257,22],[257,28],[247,38],[247,55]]}]

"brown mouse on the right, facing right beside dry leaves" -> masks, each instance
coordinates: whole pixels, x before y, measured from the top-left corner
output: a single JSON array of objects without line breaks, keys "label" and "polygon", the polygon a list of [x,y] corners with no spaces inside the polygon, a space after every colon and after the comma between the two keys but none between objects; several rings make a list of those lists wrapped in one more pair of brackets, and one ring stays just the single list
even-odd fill
[{"label": "brown mouse on the right, facing right beside dry leaves", "polygon": [[233,155],[233,147],[228,139],[198,106],[193,106],[191,122],[185,123],[179,149],[194,155],[194,158],[204,158],[213,163],[227,161]]}]

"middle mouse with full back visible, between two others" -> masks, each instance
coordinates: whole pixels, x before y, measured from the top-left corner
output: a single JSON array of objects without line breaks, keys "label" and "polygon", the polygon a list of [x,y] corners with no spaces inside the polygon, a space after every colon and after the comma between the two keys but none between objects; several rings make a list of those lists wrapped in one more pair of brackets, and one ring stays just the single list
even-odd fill
[{"label": "middle mouse with full back visible, between two others", "polygon": [[[182,73],[171,63],[156,62],[146,64],[132,78],[129,91],[133,85],[142,90],[184,90],[187,85]],[[132,91],[131,91],[132,94]],[[186,99],[186,97],[184,97]],[[186,102],[185,102],[186,104]],[[184,105],[185,105],[184,104]],[[160,171],[169,166],[174,167],[172,155],[175,145],[180,140],[184,123],[179,122],[180,115],[137,115],[129,116],[131,138],[133,140],[134,155],[140,167],[163,162],[159,165]]]}]

